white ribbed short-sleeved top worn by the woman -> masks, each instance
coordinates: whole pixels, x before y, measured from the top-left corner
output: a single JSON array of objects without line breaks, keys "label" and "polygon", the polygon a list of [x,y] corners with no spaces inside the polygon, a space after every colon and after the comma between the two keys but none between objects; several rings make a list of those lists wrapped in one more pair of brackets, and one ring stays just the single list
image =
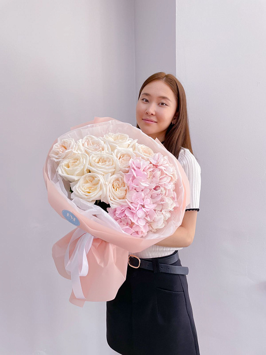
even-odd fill
[{"label": "white ribbed short-sleeved top worn by the woman", "polygon": [[[197,162],[195,156],[187,148],[181,147],[177,160],[184,169],[191,188],[191,202],[186,206],[185,210],[195,208],[199,210],[201,192],[201,167]],[[129,252],[129,254],[136,255],[139,258],[149,259],[164,257],[173,254],[175,250],[179,249],[182,249],[182,247],[151,245],[148,248],[144,249],[142,252]]]}]

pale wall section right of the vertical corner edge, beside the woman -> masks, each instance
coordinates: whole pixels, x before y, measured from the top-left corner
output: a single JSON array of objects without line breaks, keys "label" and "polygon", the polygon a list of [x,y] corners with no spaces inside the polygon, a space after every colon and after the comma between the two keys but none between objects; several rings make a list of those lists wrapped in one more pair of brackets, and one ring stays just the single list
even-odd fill
[{"label": "pale wall section right of the vertical corner edge, beside the woman", "polygon": [[203,355],[266,353],[266,3],[176,1],[176,75],[201,165],[184,248]]}]

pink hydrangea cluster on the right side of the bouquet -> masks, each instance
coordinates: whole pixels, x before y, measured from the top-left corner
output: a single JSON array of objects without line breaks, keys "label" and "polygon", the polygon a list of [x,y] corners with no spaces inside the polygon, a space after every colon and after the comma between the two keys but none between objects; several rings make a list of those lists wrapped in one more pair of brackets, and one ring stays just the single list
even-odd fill
[{"label": "pink hydrangea cluster on the right side of the bouquet", "polygon": [[128,185],[127,205],[107,208],[111,217],[136,237],[163,228],[170,211],[178,205],[173,191],[177,174],[168,157],[156,153],[148,160],[133,158],[124,179]]}]

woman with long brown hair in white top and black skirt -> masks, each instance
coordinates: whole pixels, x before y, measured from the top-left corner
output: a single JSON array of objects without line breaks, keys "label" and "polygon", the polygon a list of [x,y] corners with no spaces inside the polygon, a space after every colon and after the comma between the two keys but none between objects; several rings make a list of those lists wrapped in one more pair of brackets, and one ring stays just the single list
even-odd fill
[{"label": "woman with long brown hair in white top and black skirt", "polygon": [[129,257],[126,280],[116,298],[106,302],[107,343],[123,355],[199,355],[188,268],[182,267],[178,250],[194,239],[201,168],[192,151],[185,92],[173,75],[156,73],[143,83],[136,120],[138,128],[157,137],[182,165],[191,203],[173,235],[140,253],[129,252],[135,257]]}]

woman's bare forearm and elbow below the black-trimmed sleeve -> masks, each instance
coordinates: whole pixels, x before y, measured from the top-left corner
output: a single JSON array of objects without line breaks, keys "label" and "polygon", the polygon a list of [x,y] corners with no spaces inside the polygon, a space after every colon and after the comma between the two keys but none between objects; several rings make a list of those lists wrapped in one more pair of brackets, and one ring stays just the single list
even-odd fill
[{"label": "woman's bare forearm and elbow below the black-trimmed sleeve", "polygon": [[170,247],[186,247],[191,245],[194,240],[197,215],[197,210],[185,211],[183,221],[174,234],[162,241],[159,241],[159,243],[155,245]]}]

